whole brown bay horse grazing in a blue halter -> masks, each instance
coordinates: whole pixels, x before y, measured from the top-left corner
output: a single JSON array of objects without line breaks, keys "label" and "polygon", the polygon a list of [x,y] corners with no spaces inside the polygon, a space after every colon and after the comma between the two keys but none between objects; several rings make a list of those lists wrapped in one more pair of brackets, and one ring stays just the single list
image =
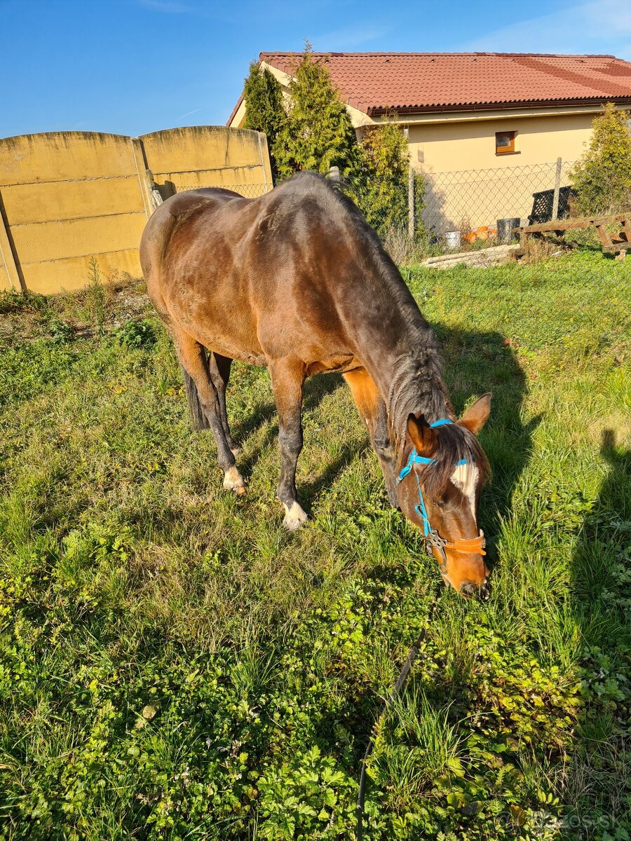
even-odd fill
[{"label": "whole brown bay horse grazing in a blue halter", "polygon": [[307,519],[295,487],[305,378],[341,372],[391,505],[422,527],[460,594],[488,595],[477,525],[487,463],[475,434],[490,395],[456,419],[432,330],[349,198],[308,172],[260,198],[179,193],[148,221],[141,263],[182,363],[193,424],[215,436],[225,489],[245,493],[225,410],[232,360],[270,370],[289,529]]}]

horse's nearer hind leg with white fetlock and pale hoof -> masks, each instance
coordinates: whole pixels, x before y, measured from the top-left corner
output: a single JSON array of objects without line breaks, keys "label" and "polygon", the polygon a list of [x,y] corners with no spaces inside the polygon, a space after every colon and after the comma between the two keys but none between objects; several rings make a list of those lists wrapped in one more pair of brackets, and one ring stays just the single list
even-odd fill
[{"label": "horse's nearer hind leg with white fetlock and pale hoof", "polygon": [[[241,474],[236,469],[235,457],[226,441],[224,426],[221,421],[220,399],[210,377],[208,359],[204,347],[191,336],[177,333],[173,336],[182,367],[193,380],[197,389],[199,403],[204,411],[209,427],[217,444],[217,460],[224,471],[224,488],[234,490],[237,495],[245,494]],[[190,401],[190,394],[189,394]]]}]

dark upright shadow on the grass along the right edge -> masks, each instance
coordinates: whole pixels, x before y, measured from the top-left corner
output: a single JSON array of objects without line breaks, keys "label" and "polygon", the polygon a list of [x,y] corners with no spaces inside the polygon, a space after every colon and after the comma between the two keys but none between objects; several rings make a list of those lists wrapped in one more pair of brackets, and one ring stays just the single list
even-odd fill
[{"label": "dark upright shadow on the grass along the right edge", "polygon": [[581,526],[571,567],[586,702],[564,785],[567,838],[631,829],[631,450],[602,432],[608,473]]}]

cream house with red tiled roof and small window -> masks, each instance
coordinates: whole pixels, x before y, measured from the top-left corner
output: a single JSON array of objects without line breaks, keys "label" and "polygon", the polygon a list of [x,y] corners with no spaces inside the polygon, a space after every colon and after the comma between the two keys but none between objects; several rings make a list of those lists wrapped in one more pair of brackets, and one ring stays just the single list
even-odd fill
[{"label": "cream house with red tiled roof and small window", "polygon": [[[528,216],[533,193],[554,187],[559,158],[567,182],[602,105],[631,108],[631,61],[615,56],[313,55],[328,67],[358,135],[384,119],[401,124],[411,166],[426,175],[430,204],[436,198],[435,230],[491,224],[496,214]],[[259,56],[285,92],[298,61],[300,53]],[[244,119],[241,97],[228,125],[241,126]],[[490,206],[491,193],[501,198],[511,192],[514,200]]]}]

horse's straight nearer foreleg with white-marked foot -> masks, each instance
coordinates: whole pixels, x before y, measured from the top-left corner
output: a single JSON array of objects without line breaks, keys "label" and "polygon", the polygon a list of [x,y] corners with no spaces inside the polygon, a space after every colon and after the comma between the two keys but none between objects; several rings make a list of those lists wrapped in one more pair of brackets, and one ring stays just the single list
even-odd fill
[{"label": "horse's straight nearer foreleg with white-marked foot", "polygon": [[296,465],[302,450],[302,387],[305,366],[294,359],[270,362],[272,389],[278,412],[278,447],[280,449],[280,481],[278,499],[283,503],[283,525],[289,529],[302,526],[307,519],[296,494]]}]

